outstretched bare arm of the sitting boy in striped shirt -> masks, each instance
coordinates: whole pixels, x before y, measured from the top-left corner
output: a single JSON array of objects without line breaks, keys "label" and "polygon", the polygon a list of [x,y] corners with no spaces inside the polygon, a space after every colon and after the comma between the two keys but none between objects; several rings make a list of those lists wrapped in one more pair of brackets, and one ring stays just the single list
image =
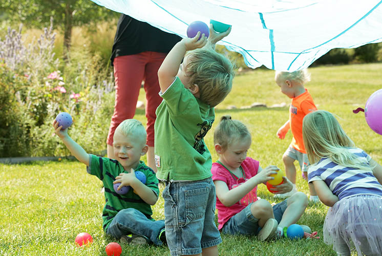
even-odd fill
[{"label": "outstretched bare arm of the sitting boy in striped shirt", "polygon": [[62,126],[58,126],[56,120],[53,121],[53,127],[54,132],[62,140],[63,144],[66,145],[70,153],[72,153],[78,161],[89,166],[89,154],[68,135],[68,129],[61,130]]}]

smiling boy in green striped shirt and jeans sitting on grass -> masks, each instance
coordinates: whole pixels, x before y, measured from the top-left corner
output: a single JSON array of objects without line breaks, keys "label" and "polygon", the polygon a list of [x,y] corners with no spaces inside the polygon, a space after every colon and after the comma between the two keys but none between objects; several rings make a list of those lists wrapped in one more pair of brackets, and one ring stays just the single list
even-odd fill
[{"label": "smiling boy in green striped shirt and jeans sitting on grass", "polygon": [[[103,183],[106,201],[102,211],[104,232],[129,244],[162,245],[165,242],[164,221],[155,221],[151,217],[151,205],[157,202],[159,195],[158,179],[154,171],[140,161],[148,148],[142,123],[126,119],[118,125],[113,142],[115,160],[86,153],[68,135],[68,129],[62,130],[56,120],[53,127],[72,155],[87,165],[87,172]],[[145,184],[136,178],[138,170],[146,176]],[[117,193],[113,187],[115,183],[121,183],[117,190],[130,186],[128,193]]]}]

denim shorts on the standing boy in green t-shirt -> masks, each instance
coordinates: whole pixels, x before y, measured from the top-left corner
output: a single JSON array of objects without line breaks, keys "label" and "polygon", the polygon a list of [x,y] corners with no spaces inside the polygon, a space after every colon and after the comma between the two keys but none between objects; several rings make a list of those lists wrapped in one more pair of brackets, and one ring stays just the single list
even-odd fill
[{"label": "denim shorts on the standing boy in green t-shirt", "polygon": [[222,242],[215,224],[216,191],[211,178],[167,181],[163,190],[166,240],[171,255],[202,253]]}]

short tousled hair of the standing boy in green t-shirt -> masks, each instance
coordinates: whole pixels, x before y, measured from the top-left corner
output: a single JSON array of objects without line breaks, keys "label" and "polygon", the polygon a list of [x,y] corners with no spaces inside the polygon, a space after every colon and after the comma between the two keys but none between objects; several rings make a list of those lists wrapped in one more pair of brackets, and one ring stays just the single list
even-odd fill
[{"label": "short tousled hair of the standing boy in green t-shirt", "polygon": [[198,85],[201,101],[216,106],[231,91],[235,76],[232,63],[215,50],[196,49],[187,55],[192,57],[186,67],[190,84]]}]

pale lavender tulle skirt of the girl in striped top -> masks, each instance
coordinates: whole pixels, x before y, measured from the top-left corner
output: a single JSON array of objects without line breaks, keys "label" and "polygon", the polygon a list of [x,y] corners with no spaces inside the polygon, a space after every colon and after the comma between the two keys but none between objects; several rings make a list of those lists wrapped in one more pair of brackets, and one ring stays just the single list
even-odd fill
[{"label": "pale lavender tulle skirt of the girl in striped top", "polygon": [[336,252],[382,255],[382,197],[360,195],[330,207],[324,222],[324,242]]}]

